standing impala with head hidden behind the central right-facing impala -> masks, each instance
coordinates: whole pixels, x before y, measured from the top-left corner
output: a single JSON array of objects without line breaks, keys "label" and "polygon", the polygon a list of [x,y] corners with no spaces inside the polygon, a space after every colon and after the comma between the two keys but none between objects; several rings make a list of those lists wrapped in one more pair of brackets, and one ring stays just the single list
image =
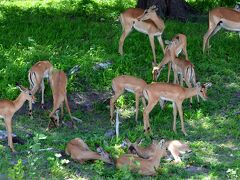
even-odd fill
[{"label": "standing impala with head hidden behind the central right-facing impala", "polygon": [[143,97],[143,89],[147,85],[147,83],[139,78],[133,76],[122,75],[114,78],[112,80],[112,89],[114,91],[114,95],[110,100],[110,121],[113,119],[114,112],[114,103],[115,101],[124,93],[124,91],[129,91],[135,94],[136,99],[136,116],[135,120],[138,119],[138,109],[139,109],[139,98],[142,98],[143,106],[146,107],[146,102]]}]

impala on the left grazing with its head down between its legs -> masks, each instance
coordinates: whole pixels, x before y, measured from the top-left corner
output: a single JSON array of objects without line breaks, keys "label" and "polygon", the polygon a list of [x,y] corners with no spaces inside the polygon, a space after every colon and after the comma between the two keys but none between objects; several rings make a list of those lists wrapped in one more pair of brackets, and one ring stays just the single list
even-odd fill
[{"label": "impala on the left grazing with its head down between its legs", "polygon": [[71,111],[70,111],[70,108],[68,105],[68,100],[67,100],[67,76],[66,76],[66,74],[63,71],[55,70],[55,71],[52,71],[49,79],[50,79],[50,86],[51,86],[52,94],[53,94],[53,110],[49,114],[49,117],[51,120],[48,124],[48,129],[50,128],[51,121],[53,122],[53,124],[56,127],[59,126],[58,109],[61,106],[61,118],[63,118],[64,102],[66,104],[67,111],[71,118],[72,125],[74,125]]}]

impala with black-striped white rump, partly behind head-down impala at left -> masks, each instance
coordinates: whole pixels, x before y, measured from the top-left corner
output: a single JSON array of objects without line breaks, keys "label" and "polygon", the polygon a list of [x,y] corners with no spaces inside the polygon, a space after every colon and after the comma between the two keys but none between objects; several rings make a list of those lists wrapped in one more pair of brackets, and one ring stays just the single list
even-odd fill
[{"label": "impala with black-striped white rump, partly behind head-down impala at left", "polygon": [[[28,80],[30,89],[34,95],[39,87],[42,90],[42,107],[44,105],[44,78],[49,78],[49,73],[53,70],[53,66],[49,61],[39,61],[34,64],[28,72]],[[29,101],[29,116],[32,117],[32,103]]]}]

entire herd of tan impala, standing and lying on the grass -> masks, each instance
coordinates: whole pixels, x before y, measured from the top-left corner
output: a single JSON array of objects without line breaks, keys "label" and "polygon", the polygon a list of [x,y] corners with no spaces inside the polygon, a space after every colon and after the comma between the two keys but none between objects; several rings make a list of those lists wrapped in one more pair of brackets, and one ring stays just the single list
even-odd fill
[{"label": "entire herd of tan impala, standing and lying on the grass", "polygon": [[[156,14],[157,8],[155,6],[143,10],[139,8],[129,8],[120,15],[120,22],[123,28],[123,33],[119,40],[119,53],[123,54],[123,44],[127,35],[136,29],[139,32],[148,35],[152,54],[153,54],[153,81],[157,81],[163,67],[168,64],[168,79],[167,82],[152,82],[147,84],[143,79],[120,75],[112,80],[112,89],[114,95],[110,99],[110,121],[113,123],[114,104],[116,100],[124,93],[129,91],[135,94],[136,101],[136,115],[135,120],[138,119],[139,99],[143,103],[143,124],[144,132],[150,133],[149,113],[154,106],[159,102],[163,109],[166,101],[171,101],[173,105],[173,131],[176,132],[176,118],[177,114],[180,116],[181,128],[184,135],[187,135],[183,122],[183,108],[182,103],[185,99],[190,98],[190,106],[192,106],[192,97],[199,96],[206,100],[207,89],[211,83],[200,84],[196,81],[196,74],[194,65],[189,61],[187,53],[187,38],[184,34],[176,34],[171,41],[165,41],[166,47],[162,39],[162,33],[165,29],[164,21]],[[207,33],[203,38],[203,53],[209,49],[209,39],[216,34],[221,28],[230,31],[240,32],[240,6],[236,5],[234,9],[231,8],[215,8],[209,12],[209,27]],[[154,37],[157,37],[164,53],[162,61],[157,64]],[[185,59],[179,58],[179,54],[183,52]],[[174,81],[170,81],[170,72],[173,70]],[[67,111],[73,122],[73,116],[68,105],[67,100],[67,76],[61,70],[54,70],[53,65],[49,61],[39,61],[34,64],[28,73],[30,88],[25,88],[19,84],[20,95],[13,101],[0,101],[0,117],[4,119],[6,130],[8,133],[8,145],[11,150],[15,152],[12,141],[12,117],[18,111],[24,102],[29,101],[29,115],[32,117],[32,103],[35,101],[34,95],[41,89],[42,107],[44,106],[44,79],[48,79],[53,94],[53,110],[49,114],[48,129],[53,126],[60,126],[59,108],[61,108],[61,118],[63,118],[63,106],[66,104]],[[183,87],[183,81],[187,88]],[[146,100],[148,103],[146,103]],[[160,165],[160,159],[167,156],[169,152],[175,162],[181,162],[180,155],[184,152],[191,151],[187,144],[178,140],[172,141],[156,141],[153,140],[149,147],[141,147],[139,143],[131,143],[128,139],[125,141],[125,146],[128,148],[128,154],[124,154],[115,159],[117,168],[128,166],[131,171],[142,175],[156,174],[156,168]],[[113,163],[109,154],[101,147],[97,147],[97,152],[90,150],[88,145],[80,138],[71,140],[65,149],[65,153],[70,155],[72,159],[83,163],[86,160],[99,159],[106,163]]]}]

